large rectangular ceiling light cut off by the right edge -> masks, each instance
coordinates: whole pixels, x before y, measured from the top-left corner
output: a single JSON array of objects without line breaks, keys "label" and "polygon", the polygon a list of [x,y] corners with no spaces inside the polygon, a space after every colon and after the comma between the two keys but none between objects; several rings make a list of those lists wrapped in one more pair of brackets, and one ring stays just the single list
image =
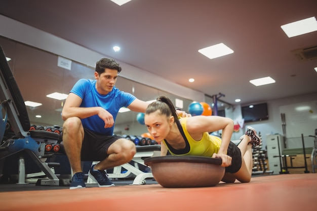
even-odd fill
[{"label": "large rectangular ceiling light cut off by the right edge", "polygon": [[317,21],[315,17],[306,18],[293,23],[281,26],[288,37],[306,34],[312,31],[317,31]]}]

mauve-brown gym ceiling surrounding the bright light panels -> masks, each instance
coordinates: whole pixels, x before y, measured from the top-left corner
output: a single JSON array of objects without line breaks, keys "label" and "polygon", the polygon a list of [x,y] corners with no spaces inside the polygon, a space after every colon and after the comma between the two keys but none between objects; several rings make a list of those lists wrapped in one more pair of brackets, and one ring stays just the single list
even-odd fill
[{"label": "mauve-brown gym ceiling surrounding the bright light panels", "polygon": [[[184,87],[222,93],[229,104],[317,92],[317,59],[300,61],[291,52],[317,46],[317,31],[288,38],[281,29],[317,18],[316,0],[2,0],[0,14]],[[210,60],[198,52],[219,43],[234,53]],[[265,76],[276,83],[249,82]]]}]

